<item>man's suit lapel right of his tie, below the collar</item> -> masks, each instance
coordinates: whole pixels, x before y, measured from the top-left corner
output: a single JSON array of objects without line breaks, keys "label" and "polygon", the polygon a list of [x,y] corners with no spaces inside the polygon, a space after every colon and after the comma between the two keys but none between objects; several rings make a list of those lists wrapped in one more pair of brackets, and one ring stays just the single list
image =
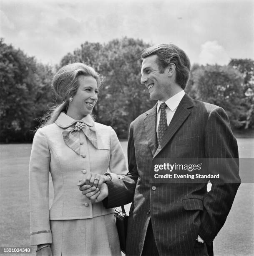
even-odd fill
[{"label": "man's suit lapel right of his tie, below the collar", "polygon": [[184,123],[184,121],[190,114],[188,108],[192,108],[193,105],[194,103],[191,97],[189,97],[188,95],[184,95],[181,102],[179,103],[179,106],[176,109],[176,113],[174,114],[170,124],[168,125],[166,133],[162,137],[162,143],[158,146],[153,158],[156,157],[156,155],[158,155],[158,153],[166,146],[168,141],[171,140],[176,131],[179,130],[181,125]]}]

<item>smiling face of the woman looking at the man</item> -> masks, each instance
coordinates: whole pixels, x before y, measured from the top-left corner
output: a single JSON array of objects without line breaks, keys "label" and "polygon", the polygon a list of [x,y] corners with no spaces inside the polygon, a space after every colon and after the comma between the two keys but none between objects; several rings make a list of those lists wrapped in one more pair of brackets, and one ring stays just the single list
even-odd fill
[{"label": "smiling face of the woman looking at the man", "polygon": [[72,102],[69,102],[67,110],[67,115],[76,120],[80,120],[86,115],[91,114],[98,99],[98,87],[95,78],[80,75],[78,82],[78,90],[73,96]]}]

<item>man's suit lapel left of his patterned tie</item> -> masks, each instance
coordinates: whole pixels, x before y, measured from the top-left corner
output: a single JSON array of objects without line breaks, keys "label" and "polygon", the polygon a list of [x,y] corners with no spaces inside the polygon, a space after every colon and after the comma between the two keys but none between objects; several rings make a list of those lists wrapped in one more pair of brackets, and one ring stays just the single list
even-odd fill
[{"label": "man's suit lapel left of his patterned tie", "polygon": [[157,115],[157,104],[148,111],[147,116],[144,118],[144,126],[146,131],[146,138],[148,141],[149,148],[154,155],[157,148],[157,134],[156,134],[156,115]]}]

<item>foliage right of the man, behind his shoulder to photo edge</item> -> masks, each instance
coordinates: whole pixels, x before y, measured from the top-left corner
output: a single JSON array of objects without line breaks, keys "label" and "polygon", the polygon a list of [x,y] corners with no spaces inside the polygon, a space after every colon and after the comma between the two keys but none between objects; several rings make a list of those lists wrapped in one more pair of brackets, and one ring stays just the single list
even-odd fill
[{"label": "foliage right of the man, behind his shoulder to photo edge", "polygon": [[[237,60],[234,60],[234,63],[239,65]],[[231,64],[227,66],[194,64],[186,91],[195,99],[224,108],[233,128],[253,128],[254,106],[251,97],[246,96],[248,91],[246,87],[251,88],[253,77],[249,75],[250,72],[248,79],[244,79],[247,77],[244,73],[246,69],[236,68]]]}]

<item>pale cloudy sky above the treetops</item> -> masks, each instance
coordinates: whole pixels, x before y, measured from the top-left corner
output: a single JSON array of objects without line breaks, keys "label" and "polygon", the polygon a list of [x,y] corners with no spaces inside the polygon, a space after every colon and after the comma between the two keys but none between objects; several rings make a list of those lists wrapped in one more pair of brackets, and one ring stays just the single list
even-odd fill
[{"label": "pale cloudy sky above the treetops", "polygon": [[0,0],[0,37],[44,64],[124,36],[176,44],[192,64],[254,59],[254,1]]}]

